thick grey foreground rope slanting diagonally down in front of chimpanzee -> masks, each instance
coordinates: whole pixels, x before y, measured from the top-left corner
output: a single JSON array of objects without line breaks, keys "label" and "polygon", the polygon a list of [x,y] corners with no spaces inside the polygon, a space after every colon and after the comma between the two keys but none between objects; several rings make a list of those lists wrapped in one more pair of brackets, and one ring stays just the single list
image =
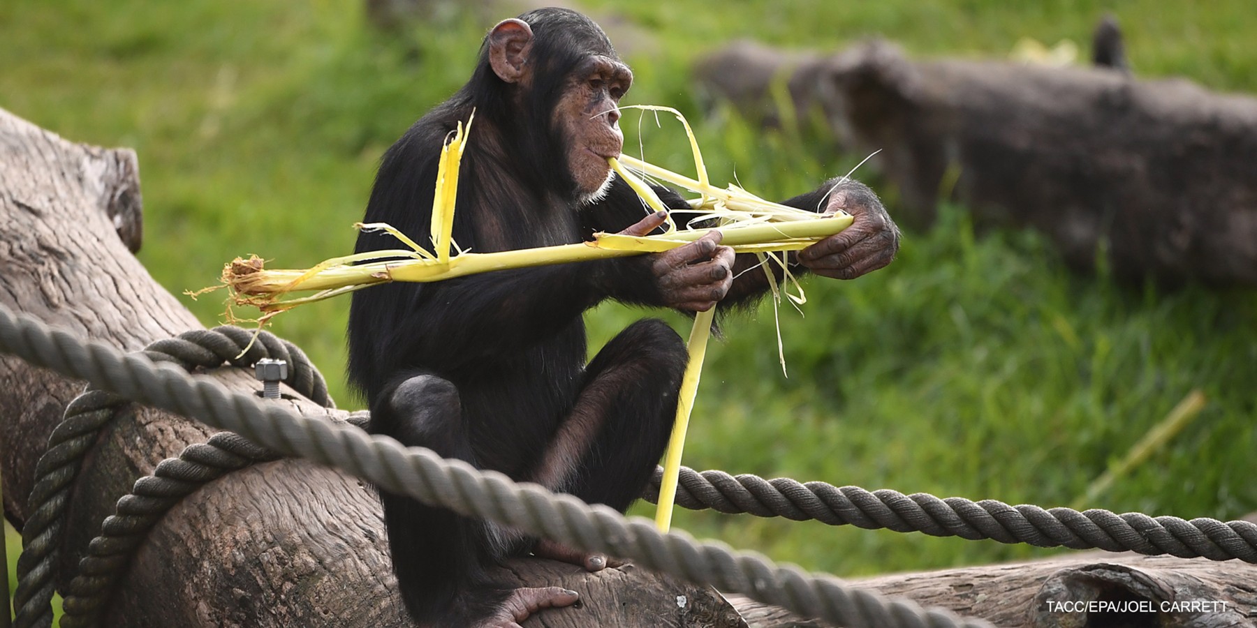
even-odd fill
[{"label": "thick grey foreground rope slanting diagonally down in front of chimpanzee", "polygon": [[959,619],[948,610],[923,609],[911,600],[887,599],[830,575],[778,566],[724,545],[698,543],[684,533],[660,534],[641,517],[625,519],[606,506],[591,506],[535,485],[517,485],[502,474],[441,458],[431,450],[402,447],[392,438],[367,435],[347,423],[261,403],[216,381],[190,377],[173,365],[126,355],[98,342],[83,343],[64,330],[49,330],[30,317],[14,315],[8,306],[0,306],[0,350],[67,377],[87,379],[137,403],[236,432],[285,456],[334,466],[381,490],[586,551],[625,556],[645,568],[742,593],[801,615],[850,627],[989,625],[978,619]]}]

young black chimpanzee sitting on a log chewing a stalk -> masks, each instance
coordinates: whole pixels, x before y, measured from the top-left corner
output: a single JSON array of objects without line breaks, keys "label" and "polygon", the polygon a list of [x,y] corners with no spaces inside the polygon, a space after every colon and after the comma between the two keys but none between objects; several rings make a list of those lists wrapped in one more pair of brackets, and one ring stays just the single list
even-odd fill
[{"label": "young black chimpanzee sitting on a log chewing a stalk", "polygon": [[[365,220],[427,242],[441,144],[474,111],[454,217],[459,246],[489,252],[578,242],[593,231],[651,232],[662,212],[642,217],[607,166],[623,143],[617,104],[631,83],[611,41],[581,14],[539,9],[498,24],[466,85],[385,153]],[[684,205],[659,192],[670,207]],[[899,231],[861,183],[830,182],[787,203],[855,216],[842,234],[799,251],[792,263],[801,270],[851,279],[885,266],[899,247]],[[356,250],[395,246],[363,234]],[[586,364],[581,314],[605,299],[686,311],[745,303],[767,289],[763,273],[740,274],[753,264],[714,232],[654,255],[375,286],[353,295],[349,378],[370,401],[375,433],[623,511],[666,445],[685,345],[662,322],[640,320]],[[517,625],[576,602],[561,588],[494,583],[485,568],[507,556],[608,566],[607,556],[381,499],[402,602],[422,625]]]}]

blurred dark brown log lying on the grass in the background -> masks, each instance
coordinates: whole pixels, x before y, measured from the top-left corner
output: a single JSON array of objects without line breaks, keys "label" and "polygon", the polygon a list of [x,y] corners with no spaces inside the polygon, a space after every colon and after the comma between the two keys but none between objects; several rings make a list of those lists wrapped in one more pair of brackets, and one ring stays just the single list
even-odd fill
[{"label": "blurred dark brown log lying on the grass in the background", "polygon": [[910,60],[882,41],[836,55],[740,44],[696,72],[769,119],[786,77],[796,109],[881,151],[899,221],[929,225],[950,195],[983,224],[1047,234],[1075,266],[1105,250],[1119,276],[1257,285],[1254,98],[1111,68]]}]

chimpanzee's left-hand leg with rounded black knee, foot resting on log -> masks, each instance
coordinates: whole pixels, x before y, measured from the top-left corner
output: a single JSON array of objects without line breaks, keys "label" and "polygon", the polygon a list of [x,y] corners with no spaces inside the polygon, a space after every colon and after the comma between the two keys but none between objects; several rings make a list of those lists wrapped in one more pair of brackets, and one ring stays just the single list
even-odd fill
[{"label": "chimpanzee's left-hand leg with rounded black knee, foot resting on log", "polygon": [[[371,408],[371,431],[474,466],[458,389],[439,377],[411,372],[391,382]],[[495,528],[410,497],[380,491],[393,571],[402,603],[420,625],[515,625],[529,614],[576,602],[557,587],[495,585],[484,565],[504,558]]]}]

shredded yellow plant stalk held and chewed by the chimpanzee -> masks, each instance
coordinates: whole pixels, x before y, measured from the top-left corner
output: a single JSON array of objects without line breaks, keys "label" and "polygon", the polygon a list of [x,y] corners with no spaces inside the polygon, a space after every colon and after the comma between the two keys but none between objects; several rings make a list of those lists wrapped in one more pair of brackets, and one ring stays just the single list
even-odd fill
[{"label": "shredded yellow plant stalk held and chewed by the chimpanzee", "polygon": [[[641,106],[640,108],[666,111],[681,121],[690,138],[698,178],[694,180],[678,175],[627,154],[608,160],[608,165],[637,192],[652,211],[665,210],[665,207],[654,190],[639,178],[635,172],[698,192],[700,197],[689,201],[690,210],[686,211],[694,214],[695,217],[688,224],[714,221],[719,225],[718,229],[723,234],[723,245],[732,246],[735,252],[753,252],[760,257],[774,296],[773,305],[776,314],[777,300],[784,294],[784,290],[777,285],[777,279],[768,268],[769,261],[777,264],[784,273],[784,280],[798,289],[798,283],[786,264],[783,251],[801,250],[837,234],[851,225],[852,217],[843,212],[832,216],[817,215],[807,210],[769,202],[734,185],[729,185],[727,188],[713,186],[708,180],[698,141],[685,118],[675,109],[666,107]],[[459,162],[466,147],[470,128],[470,119],[466,126],[460,123],[453,133],[451,139],[441,148],[441,158],[437,165],[436,192],[432,198],[431,236],[435,255],[421,249],[412,240],[388,225],[357,225],[363,230],[387,231],[410,249],[370,251],[333,257],[307,270],[268,270],[263,269],[261,260],[256,256],[248,260],[238,257],[231,264],[228,264],[222,271],[222,283],[230,288],[235,301],[259,308],[263,311],[261,320],[266,320],[274,314],[293,306],[328,299],[376,284],[388,281],[441,281],[493,270],[660,252],[684,246],[711,231],[710,229],[680,230],[676,229],[675,222],[669,217],[669,230],[661,235],[628,236],[621,234],[596,234],[595,240],[591,242],[488,254],[459,250],[458,255],[451,255],[450,247],[454,246],[458,249],[458,245],[453,241],[453,227]],[[285,295],[289,293],[309,290],[317,293],[309,296],[285,299]],[[791,294],[787,294],[787,296],[794,303],[803,301],[802,290],[798,291],[797,296]],[[681,381],[681,391],[676,404],[676,420],[664,458],[664,479],[660,486],[659,510],[655,515],[655,522],[662,531],[667,531],[671,526],[672,502],[676,497],[681,451],[685,443],[685,433],[689,428],[694,398],[698,393],[714,314],[715,308],[711,308],[708,311],[695,315],[694,327],[690,330],[688,343],[689,363]],[[777,344],[778,353],[781,353],[779,328]],[[782,358],[782,367],[784,369],[784,358]]]}]

